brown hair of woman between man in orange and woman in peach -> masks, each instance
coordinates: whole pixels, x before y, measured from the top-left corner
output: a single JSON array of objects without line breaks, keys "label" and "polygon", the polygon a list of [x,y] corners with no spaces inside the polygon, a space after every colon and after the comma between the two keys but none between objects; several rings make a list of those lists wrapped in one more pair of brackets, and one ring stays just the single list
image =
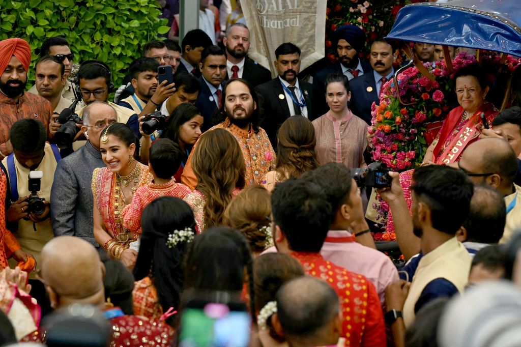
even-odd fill
[{"label": "brown hair of woman between man in orange and woman in peach", "polygon": [[298,178],[318,167],[315,128],[304,116],[292,116],[277,133],[277,179]]}]

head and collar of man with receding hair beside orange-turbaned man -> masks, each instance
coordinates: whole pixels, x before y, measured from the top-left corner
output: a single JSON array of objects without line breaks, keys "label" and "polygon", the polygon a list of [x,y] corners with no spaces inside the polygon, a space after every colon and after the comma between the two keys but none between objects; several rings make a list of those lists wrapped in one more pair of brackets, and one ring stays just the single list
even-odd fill
[{"label": "head and collar of man with receding hair beside orange-turbaned man", "polygon": [[69,107],[67,100],[61,91],[66,84],[65,65],[53,55],[46,55],[36,63],[36,90],[40,96],[46,98],[53,109],[53,113],[60,112]]}]

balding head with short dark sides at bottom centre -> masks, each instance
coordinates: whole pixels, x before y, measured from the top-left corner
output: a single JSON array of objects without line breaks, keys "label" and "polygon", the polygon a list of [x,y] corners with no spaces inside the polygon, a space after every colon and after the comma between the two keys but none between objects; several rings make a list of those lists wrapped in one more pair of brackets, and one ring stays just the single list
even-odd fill
[{"label": "balding head with short dark sides at bottom centre", "polygon": [[284,284],[276,295],[277,315],[290,345],[336,344],[340,320],[337,293],[328,283],[302,276]]}]

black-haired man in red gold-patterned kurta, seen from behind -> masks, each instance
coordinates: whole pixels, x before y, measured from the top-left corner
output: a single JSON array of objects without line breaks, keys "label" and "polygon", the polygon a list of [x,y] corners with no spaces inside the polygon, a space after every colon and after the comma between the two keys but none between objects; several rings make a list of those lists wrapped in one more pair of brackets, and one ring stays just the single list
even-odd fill
[{"label": "black-haired man in red gold-patterned kurta, seen from behind", "polygon": [[271,204],[271,230],[277,250],[295,257],[307,275],[328,282],[337,292],[345,344],[385,346],[385,325],[374,284],[320,255],[329,230],[331,205],[318,185],[301,179],[279,183]]}]

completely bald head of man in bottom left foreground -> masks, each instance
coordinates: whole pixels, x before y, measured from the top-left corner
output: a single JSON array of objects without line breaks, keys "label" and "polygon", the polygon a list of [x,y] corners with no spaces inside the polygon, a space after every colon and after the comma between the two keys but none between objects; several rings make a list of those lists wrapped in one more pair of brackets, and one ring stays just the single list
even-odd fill
[{"label": "completely bald head of man in bottom left foreground", "polygon": [[[60,300],[92,303],[104,299],[100,256],[90,243],[78,237],[60,236],[47,242],[41,255],[42,277]],[[101,294],[101,295],[100,295]],[[102,300],[103,303],[103,300]]]}]

